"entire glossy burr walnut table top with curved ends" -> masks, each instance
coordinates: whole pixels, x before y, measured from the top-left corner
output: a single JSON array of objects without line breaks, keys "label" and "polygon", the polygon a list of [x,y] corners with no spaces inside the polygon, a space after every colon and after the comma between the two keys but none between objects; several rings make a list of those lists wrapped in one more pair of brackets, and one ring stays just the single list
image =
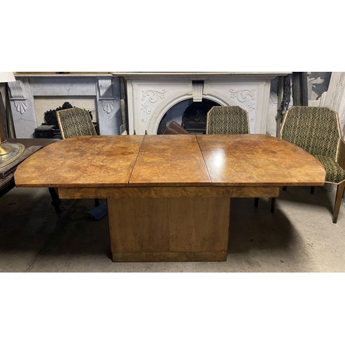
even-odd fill
[{"label": "entire glossy burr walnut table top with curved ends", "polygon": [[115,135],[63,139],[19,165],[18,187],[320,186],[322,165],[267,135]]}]

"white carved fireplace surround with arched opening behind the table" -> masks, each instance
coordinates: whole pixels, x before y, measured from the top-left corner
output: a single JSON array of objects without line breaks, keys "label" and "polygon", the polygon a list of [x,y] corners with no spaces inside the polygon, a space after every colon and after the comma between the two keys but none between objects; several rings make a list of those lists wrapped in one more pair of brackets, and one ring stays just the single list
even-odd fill
[{"label": "white carved fireplace surround with arched opening behind the table", "polygon": [[[290,72],[114,72],[127,83],[128,132],[157,134],[159,122],[175,104],[186,99],[210,99],[221,106],[247,110],[250,133],[268,131],[271,80]],[[196,82],[194,82],[196,81]],[[203,81],[203,83],[200,83]],[[272,105],[273,108],[272,109]],[[274,127],[274,126],[273,126]]]}]

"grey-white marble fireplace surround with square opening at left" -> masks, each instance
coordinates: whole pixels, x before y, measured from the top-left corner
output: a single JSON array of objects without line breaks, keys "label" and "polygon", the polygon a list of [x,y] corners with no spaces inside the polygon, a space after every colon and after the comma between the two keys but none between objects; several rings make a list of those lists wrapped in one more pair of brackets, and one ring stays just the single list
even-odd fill
[{"label": "grey-white marble fireplace surround with square opening at left", "polygon": [[[17,138],[34,137],[34,129],[41,125],[34,108],[34,99],[59,97],[68,101],[83,97],[95,99],[94,121],[101,135],[119,135],[120,107],[117,77],[112,75],[15,75],[8,83],[14,130]],[[72,103],[72,102],[71,102]],[[73,106],[73,103],[72,103]],[[46,110],[50,110],[47,108]]]}]

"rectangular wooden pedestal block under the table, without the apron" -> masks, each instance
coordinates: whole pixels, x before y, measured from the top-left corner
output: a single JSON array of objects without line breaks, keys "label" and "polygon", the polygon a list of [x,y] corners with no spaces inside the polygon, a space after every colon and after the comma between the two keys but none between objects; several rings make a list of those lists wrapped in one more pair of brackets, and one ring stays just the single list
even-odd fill
[{"label": "rectangular wooden pedestal block under the table, without the apron", "polygon": [[229,197],[108,199],[114,262],[226,261]]}]

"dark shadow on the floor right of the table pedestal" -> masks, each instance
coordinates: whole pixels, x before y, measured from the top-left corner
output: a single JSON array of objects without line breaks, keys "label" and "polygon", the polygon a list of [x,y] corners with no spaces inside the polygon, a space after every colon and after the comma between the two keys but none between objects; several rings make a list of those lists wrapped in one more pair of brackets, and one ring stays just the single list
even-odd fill
[{"label": "dark shadow on the floor right of the table pedestal", "polygon": [[[282,190],[276,201],[275,213],[270,209],[270,198],[260,198],[260,208],[253,208],[250,198],[233,198],[230,210],[230,228],[228,253],[245,253],[252,249],[287,249],[297,247],[299,232],[290,221],[286,206],[293,203],[296,208],[306,210],[319,207],[329,212],[329,220],[333,215],[333,199],[335,192],[324,188],[315,188],[310,193],[310,187],[288,187]],[[282,204],[281,204],[282,203]],[[297,215],[296,215],[297,217]],[[298,223],[297,223],[298,224]],[[332,222],[329,224],[332,226]]]}]

